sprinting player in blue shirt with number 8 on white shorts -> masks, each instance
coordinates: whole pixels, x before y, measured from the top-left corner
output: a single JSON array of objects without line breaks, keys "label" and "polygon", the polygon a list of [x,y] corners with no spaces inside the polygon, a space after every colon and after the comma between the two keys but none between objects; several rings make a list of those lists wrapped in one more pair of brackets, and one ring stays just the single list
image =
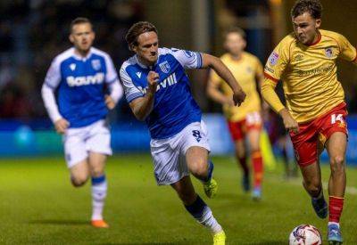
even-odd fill
[{"label": "sprinting player in blue shirt with number 8 on white shorts", "polygon": [[122,64],[120,79],[131,110],[149,128],[157,184],[170,184],[187,211],[211,230],[213,243],[225,244],[222,227],[195,192],[189,176],[191,173],[202,181],[209,198],[215,195],[207,130],[185,69],[214,69],[231,86],[235,104],[245,100],[245,93],[219,58],[159,48],[157,29],[149,22],[134,24],[126,40],[136,55]]}]

